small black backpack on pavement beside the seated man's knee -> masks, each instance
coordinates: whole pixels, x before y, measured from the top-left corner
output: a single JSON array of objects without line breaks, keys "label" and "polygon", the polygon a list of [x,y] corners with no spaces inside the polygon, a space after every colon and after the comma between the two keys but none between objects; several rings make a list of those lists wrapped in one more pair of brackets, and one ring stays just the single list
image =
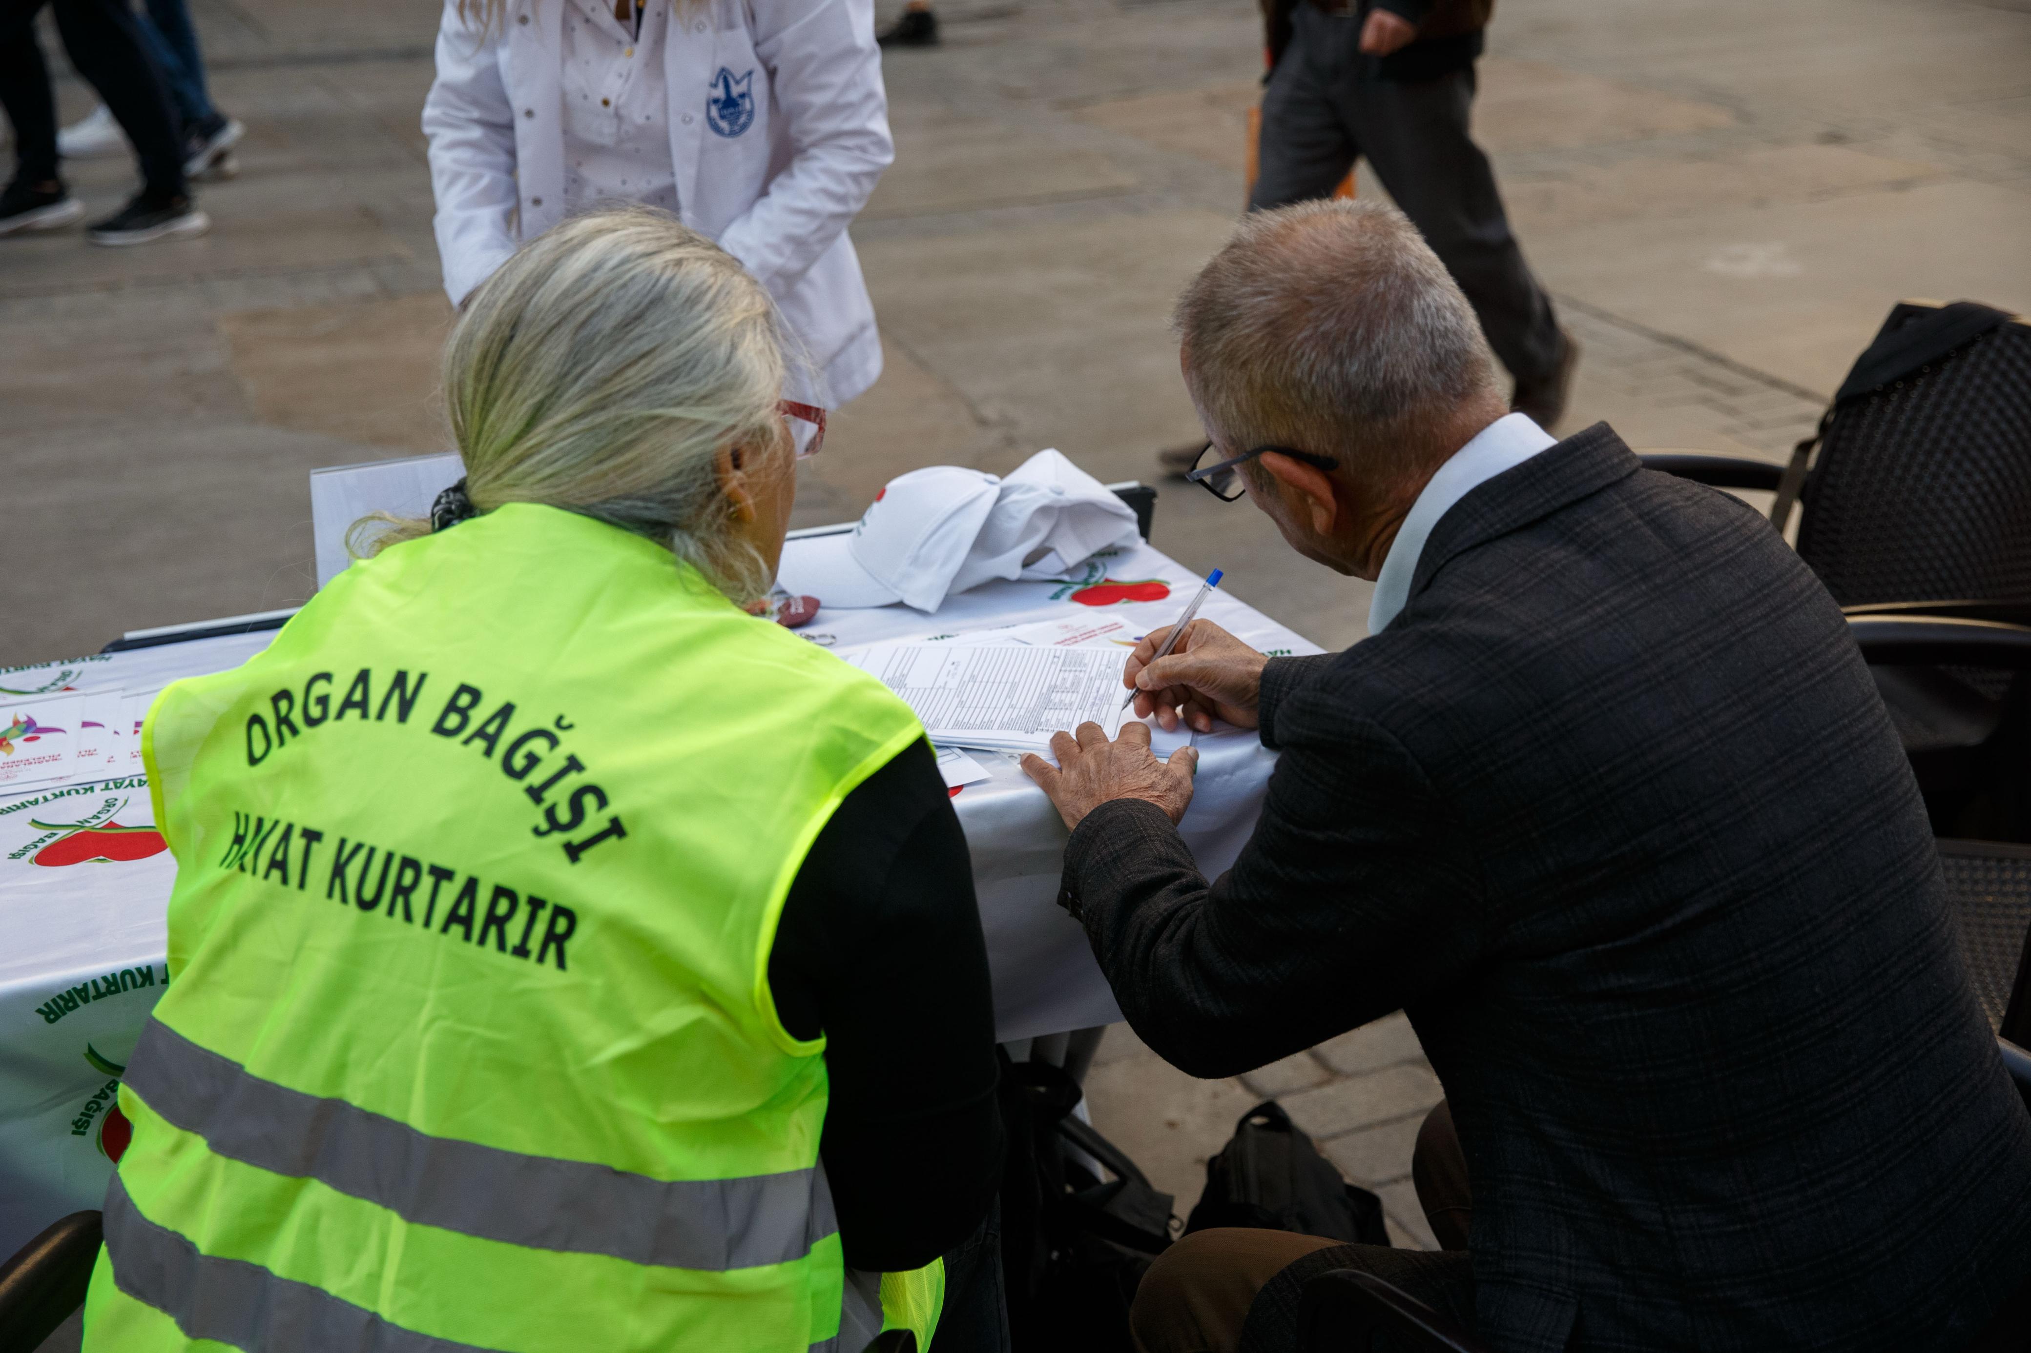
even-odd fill
[{"label": "small black backpack on pavement beside the seated man's knee", "polygon": [[1184,1231],[1190,1235],[1217,1225],[1389,1243],[1383,1201],[1342,1181],[1275,1099],[1243,1114],[1233,1140],[1206,1160],[1206,1191]]}]

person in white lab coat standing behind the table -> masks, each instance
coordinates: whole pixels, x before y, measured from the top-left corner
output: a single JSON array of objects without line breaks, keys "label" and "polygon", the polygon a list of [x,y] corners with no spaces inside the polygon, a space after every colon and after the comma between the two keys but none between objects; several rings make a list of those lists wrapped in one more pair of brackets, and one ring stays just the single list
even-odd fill
[{"label": "person in white lab coat standing behind the table", "polygon": [[638,201],[776,298],[837,408],[881,375],[847,225],[896,156],[871,0],[447,0],[422,103],[453,304],[575,209]]}]

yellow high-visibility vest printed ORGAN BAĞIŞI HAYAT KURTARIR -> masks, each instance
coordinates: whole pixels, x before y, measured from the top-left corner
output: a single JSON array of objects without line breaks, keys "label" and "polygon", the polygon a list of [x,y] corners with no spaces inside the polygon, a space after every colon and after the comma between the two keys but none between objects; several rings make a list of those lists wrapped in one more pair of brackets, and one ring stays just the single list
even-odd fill
[{"label": "yellow high-visibility vest printed ORGAN BA\u011eI\u015eI HAYAT KURTARIR", "polygon": [[656,544],[508,505],[347,568],[142,755],[175,984],[85,1349],[920,1349],[851,1274],[784,897],[922,738]]}]

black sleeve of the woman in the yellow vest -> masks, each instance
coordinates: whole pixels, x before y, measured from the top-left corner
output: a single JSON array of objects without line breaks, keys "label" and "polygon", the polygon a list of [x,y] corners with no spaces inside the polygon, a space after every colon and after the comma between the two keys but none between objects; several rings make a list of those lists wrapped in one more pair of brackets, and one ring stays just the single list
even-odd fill
[{"label": "black sleeve of the woman in the yellow vest", "polygon": [[768,980],[792,1035],[825,1035],[818,1150],[847,1264],[896,1272],[957,1248],[1001,1179],[999,1063],[973,862],[926,742],[818,834]]}]

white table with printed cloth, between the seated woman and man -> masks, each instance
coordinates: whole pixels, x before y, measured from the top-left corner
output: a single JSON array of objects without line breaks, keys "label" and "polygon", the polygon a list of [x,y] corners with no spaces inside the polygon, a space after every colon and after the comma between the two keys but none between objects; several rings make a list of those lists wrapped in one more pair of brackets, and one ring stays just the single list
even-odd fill
[{"label": "white table with printed cloth, between the seated woman and man", "polygon": [[[792,540],[788,550],[796,550]],[[1093,566],[1095,578],[1150,580],[1170,594],[1119,602],[1107,615],[1131,633],[1168,625],[1198,578],[1150,546]],[[821,611],[800,633],[827,647],[1020,625],[1078,611],[1070,584],[995,582],[946,598],[936,615],[908,607]],[[1259,611],[1223,592],[1202,615],[1265,651],[1316,653]],[[193,639],[0,671],[6,692],[150,690],[219,671],[268,645],[274,631]],[[1182,824],[1198,864],[1233,864],[1255,826],[1273,755],[1253,732],[1194,738],[1198,791]],[[1044,793],[1001,753],[973,753],[991,775],[953,799],[973,850],[973,878],[995,984],[1001,1041],[1089,1028],[1121,1018],[1085,931],[1056,905],[1064,826]],[[167,850],[118,864],[37,864],[65,824],[152,824],[136,773],[95,785],[0,797],[0,1258],[81,1207],[97,1207],[112,1164],[100,1124],[114,1073],[169,982],[165,909],[175,882]],[[47,826],[37,826],[47,824]],[[134,838],[124,838],[132,842]],[[55,852],[61,856],[63,852]]]}]

